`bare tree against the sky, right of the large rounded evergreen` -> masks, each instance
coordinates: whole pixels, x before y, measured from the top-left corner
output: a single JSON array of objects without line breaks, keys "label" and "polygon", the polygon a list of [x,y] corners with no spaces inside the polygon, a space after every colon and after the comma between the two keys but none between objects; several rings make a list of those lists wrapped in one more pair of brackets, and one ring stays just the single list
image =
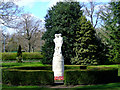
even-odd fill
[{"label": "bare tree against the sky, right of the large rounded evergreen", "polygon": [[94,28],[98,25],[100,20],[100,13],[103,11],[103,3],[89,0],[87,4],[83,3],[84,15],[86,15]]}]

